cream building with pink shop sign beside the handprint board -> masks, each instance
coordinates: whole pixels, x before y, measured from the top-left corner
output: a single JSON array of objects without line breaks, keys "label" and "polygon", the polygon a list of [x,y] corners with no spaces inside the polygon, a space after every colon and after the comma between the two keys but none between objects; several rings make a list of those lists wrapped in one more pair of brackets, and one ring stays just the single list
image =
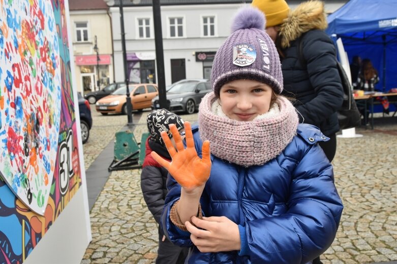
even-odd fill
[{"label": "cream building with pink shop sign beside the handprint board", "polygon": [[81,94],[112,83],[113,43],[103,0],[69,0],[76,87]]}]

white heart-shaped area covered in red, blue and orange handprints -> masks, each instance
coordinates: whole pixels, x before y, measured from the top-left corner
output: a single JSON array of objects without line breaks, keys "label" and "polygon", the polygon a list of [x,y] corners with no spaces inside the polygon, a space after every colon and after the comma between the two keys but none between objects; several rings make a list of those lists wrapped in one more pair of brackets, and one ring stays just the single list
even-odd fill
[{"label": "white heart-shaped area covered in red, blue and orange handprints", "polygon": [[29,209],[43,214],[59,135],[55,18],[49,1],[11,3],[1,16],[6,21],[0,42],[0,173]]}]

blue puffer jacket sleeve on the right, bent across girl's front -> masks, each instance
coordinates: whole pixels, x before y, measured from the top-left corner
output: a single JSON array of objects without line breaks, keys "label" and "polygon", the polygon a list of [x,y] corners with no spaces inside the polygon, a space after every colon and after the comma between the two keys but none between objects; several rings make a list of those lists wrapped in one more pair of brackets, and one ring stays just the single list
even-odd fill
[{"label": "blue puffer jacket sleeve on the right, bent across girl's front", "polygon": [[253,263],[307,263],[334,240],[343,205],[332,165],[317,144],[309,146],[293,171],[287,206],[280,216],[246,222]]}]

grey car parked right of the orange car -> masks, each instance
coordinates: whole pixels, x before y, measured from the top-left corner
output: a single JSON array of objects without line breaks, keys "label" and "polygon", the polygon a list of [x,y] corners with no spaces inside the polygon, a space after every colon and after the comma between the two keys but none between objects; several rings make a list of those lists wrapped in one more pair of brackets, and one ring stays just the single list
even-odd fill
[{"label": "grey car parked right of the orange car", "polygon": [[[184,111],[193,114],[198,110],[201,99],[211,91],[209,82],[179,83],[167,91],[167,108],[171,112]],[[159,96],[151,100],[151,109],[159,109]]]}]

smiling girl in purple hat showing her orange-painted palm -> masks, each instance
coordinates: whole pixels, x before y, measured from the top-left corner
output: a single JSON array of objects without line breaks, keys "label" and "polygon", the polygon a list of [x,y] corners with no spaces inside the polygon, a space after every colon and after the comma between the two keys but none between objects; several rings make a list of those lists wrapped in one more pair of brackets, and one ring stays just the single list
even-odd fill
[{"label": "smiling girl in purple hat showing her orange-painted palm", "polygon": [[199,126],[185,122],[186,147],[162,133],[172,162],[161,224],[187,263],[307,263],[324,252],[343,205],[318,128],[298,124],[283,97],[276,47],[254,8],[239,10],[215,55],[213,91]]}]

